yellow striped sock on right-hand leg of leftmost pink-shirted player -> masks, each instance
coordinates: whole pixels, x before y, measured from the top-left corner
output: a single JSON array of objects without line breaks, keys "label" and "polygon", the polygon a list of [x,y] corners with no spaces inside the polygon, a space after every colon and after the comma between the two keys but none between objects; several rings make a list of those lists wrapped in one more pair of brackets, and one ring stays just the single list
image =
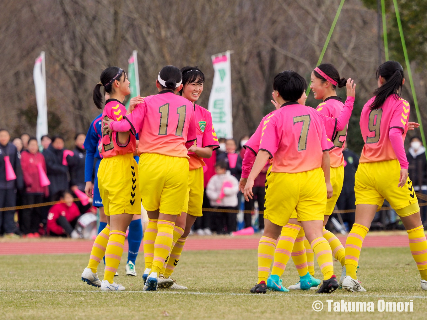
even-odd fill
[{"label": "yellow striped sock on right-hand leg of leftmost pink-shirted player", "polygon": [[119,230],[111,230],[105,249],[105,273],[104,280],[114,282],[114,275],[122,259],[123,247],[125,246],[126,233]]}]

